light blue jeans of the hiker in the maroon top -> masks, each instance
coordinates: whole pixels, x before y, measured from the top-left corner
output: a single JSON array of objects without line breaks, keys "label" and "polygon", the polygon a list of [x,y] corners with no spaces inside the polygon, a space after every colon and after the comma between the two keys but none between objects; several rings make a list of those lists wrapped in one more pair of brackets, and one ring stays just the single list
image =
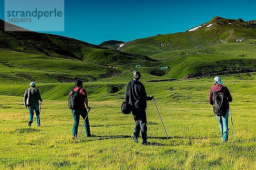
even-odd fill
[{"label": "light blue jeans of the hiker in the maroon top", "polygon": [[222,142],[228,141],[228,112],[229,109],[227,110],[227,113],[224,116],[216,115],[221,130]]}]

